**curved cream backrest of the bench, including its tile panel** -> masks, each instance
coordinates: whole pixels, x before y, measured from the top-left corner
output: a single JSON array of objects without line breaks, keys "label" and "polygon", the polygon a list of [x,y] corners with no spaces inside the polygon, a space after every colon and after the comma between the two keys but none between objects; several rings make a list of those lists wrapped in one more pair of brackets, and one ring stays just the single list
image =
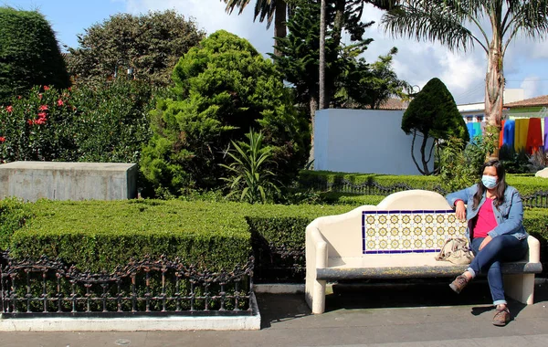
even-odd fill
[{"label": "curved cream backrest of the bench, including its tile panel", "polygon": [[[379,224],[379,217],[395,215],[395,211],[399,211],[398,218],[420,216],[425,222],[417,222],[416,227],[420,227],[410,229],[409,235],[406,235],[407,231],[403,226],[400,230],[399,225],[398,233],[394,237],[391,233],[392,228],[386,229],[386,236],[378,234],[383,227]],[[434,214],[432,211],[437,213]],[[433,220],[426,223],[429,215]],[[365,216],[374,216],[376,219],[369,225],[369,220]],[[346,214],[317,218],[310,227],[317,227],[326,239],[329,257],[362,257],[369,253],[435,252],[440,248],[439,244],[453,232],[456,235],[464,235],[466,226],[457,220],[453,222],[452,216],[455,216],[455,213],[442,195],[425,190],[409,190],[388,195],[379,205],[363,205]],[[387,221],[392,223],[390,218],[387,218]],[[432,228],[431,236],[427,235],[430,232],[427,227]],[[371,230],[375,231],[374,237],[367,234]],[[442,230],[443,236],[440,234]],[[395,240],[398,241],[397,247]],[[420,243],[417,240],[420,240]]]}]

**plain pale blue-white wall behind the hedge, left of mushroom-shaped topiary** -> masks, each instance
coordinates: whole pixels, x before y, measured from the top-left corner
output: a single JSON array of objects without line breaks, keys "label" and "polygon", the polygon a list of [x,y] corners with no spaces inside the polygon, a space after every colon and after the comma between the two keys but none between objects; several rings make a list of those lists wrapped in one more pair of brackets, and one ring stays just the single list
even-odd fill
[{"label": "plain pale blue-white wall behind the hedge, left of mushroom-shaped topiary", "polygon": [[[411,158],[412,135],[403,110],[319,110],[314,117],[314,170],[364,174],[420,174]],[[422,137],[415,157],[420,163]],[[428,140],[428,148],[432,140]],[[434,158],[429,163],[434,168]]]}]

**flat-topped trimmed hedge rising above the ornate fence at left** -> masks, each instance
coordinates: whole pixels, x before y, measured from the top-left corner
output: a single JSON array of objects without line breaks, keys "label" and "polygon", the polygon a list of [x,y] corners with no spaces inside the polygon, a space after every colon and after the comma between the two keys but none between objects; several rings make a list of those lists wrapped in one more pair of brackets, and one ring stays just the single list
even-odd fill
[{"label": "flat-topped trimmed hedge rising above the ornate fence at left", "polygon": [[[232,269],[251,254],[246,216],[269,221],[346,212],[346,206],[248,205],[239,203],[130,200],[61,202],[40,200],[11,207],[11,220],[32,216],[25,226],[12,223],[0,240],[11,234],[10,252],[16,258],[47,255],[90,271],[111,271],[131,258],[145,255],[181,258],[199,268]],[[4,215],[0,215],[4,216]],[[311,220],[310,219],[310,220]],[[20,223],[22,224],[22,223]],[[300,225],[298,224],[298,225]],[[284,224],[274,228],[285,235]],[[262,228],[266,228],[263,226]],[[280,228],[282,228],[280,230]],[[303,229],[300,230],[304,240]],[[268,233],[265,233],[268,235]],[[287,237],[283,237],[283,241]],[[6,243],[6,242],[5,242]]]}]

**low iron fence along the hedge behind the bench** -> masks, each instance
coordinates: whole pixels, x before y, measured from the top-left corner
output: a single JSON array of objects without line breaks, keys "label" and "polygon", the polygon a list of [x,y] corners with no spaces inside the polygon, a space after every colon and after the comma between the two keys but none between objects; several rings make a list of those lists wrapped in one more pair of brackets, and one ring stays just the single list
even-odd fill
[{"label": "low iron fence along the hedge behind the bench", "polygon": [[[364,182],[363,184],[353,184],[352,182],[342,179],[337,182],[327,182],[326,180],[314,180],[306,184],[306,188],[311,188],[317,191],[331,191],[336,193],[349,193],[356,195],[391,195],[396,192],[402,192],[411,189],[417,189],[409,184],[393,184],[382,185],[374,181]],[[424,188],[447,195],[449,192],[441,187],[434,185],[433,187]],[[522,203],[525,207],[542,207],[548,208],[548,192],[538,191],[532,195],[522,196]]]}]

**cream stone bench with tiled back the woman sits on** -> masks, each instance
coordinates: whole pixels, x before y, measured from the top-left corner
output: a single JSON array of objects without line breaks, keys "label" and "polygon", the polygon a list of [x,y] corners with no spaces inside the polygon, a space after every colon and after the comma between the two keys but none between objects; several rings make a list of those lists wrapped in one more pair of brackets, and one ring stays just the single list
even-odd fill
[{"label": "cream stone bench with tiled back the woman sits on", "polygon": [[[316,218],[306,228],[306,301],[312,313],[325,308],[327,281],[455,277],[468,266],[437,261],[448,237],[464,236],[446,199],[411,190],[385,197],[339,216]],[[529,237],[529,254],[504,263],[506,294],[532,304],[534,274],[542,271],[540,243]]]}]

